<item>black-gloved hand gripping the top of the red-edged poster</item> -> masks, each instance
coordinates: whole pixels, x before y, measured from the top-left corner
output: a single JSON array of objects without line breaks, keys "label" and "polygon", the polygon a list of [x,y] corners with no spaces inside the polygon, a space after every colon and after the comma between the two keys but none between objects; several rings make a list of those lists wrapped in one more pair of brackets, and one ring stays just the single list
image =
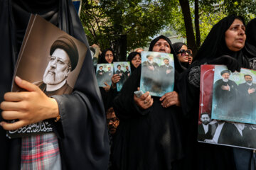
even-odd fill
[{"label": "black-gloved hand gripping the top of the red-edged poster", "polygon": [[235,72],[235,71],[240,72],[240,69],[241,69],[241,66],[238,63],[238,60],[236,60],[233,57],[230,57],[229,55],[220,56],[215,60],[208,62],[208,64],[224,64],[228,67],[228,69],[230,69],[231,72]]}]

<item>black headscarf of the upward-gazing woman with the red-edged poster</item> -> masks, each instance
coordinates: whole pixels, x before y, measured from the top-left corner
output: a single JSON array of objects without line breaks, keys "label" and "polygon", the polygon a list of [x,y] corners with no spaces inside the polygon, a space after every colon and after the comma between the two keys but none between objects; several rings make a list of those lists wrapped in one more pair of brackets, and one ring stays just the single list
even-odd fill
[{"label": "black headscarf of the upward-gazing woman with the red-edged poster", "polygon": [[[242,67],[247,67],[247,62],[243,60],[242,50],[233,52],[225,44],[225,32],[230,28],[235,19],[239,19],[245,25],[244,19],[241,16],[230,15],[213,26],[196,54],[195,60],[199,64],[210,62],[223,55],[229,55],[237,59]],[[191,67],[193,66],[194,64],[191,65]]]}]

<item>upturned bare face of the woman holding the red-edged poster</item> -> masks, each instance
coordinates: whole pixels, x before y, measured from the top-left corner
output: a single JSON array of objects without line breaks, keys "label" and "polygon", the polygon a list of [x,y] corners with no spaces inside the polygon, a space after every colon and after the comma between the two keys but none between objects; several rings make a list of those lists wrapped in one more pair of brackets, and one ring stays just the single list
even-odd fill
[{"label": "upturned bare face of the woman holding the red-edged poster", "polygon": [[245,46],[245,26],[242,21],[235,19],[225,32],[225,43],[229,50],[237,52]]}]

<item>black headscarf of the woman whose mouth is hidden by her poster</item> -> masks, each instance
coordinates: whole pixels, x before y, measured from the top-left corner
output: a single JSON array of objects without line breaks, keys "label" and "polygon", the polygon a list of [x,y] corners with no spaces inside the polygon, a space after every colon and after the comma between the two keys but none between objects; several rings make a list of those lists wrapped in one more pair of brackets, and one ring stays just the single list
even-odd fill
[{"label": "black headscarf of the woman whose mouth is hidden by her poster", "polygon": [[178,58],[176,57],[176,54],[175,54],[175,50],[174,50],[174,47],[173,45],[171,44],[171,40],[169,38],[166,38],[166,36],[164,35],[160,35],[159,37],[155,38],[154,40],[152,40],[150,42],[150,45],[149,45],[149,51],[152,51],[153,50],[153,47],[154,45],[156,44],[156,42],[160,39],[164,39],[166,40],[170,47],[171,47],[171,54],[174,55],[174,67],[175,67],[175,70],[178,72],[178,73],[181,73],[184,71],[184,68],[181,67],[181,62],[178,61]]}]

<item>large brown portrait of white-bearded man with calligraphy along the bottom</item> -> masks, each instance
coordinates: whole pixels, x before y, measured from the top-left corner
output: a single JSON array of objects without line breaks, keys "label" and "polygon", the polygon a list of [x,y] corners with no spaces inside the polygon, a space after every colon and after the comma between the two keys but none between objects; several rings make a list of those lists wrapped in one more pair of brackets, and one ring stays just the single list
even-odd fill
[{"label": "large brown portrait of white-bearded man with calligraphy along the bottom", "polygon": [[[14,77],[36,84],[46,96],[71,94],[87,47],[41,16],[31,15],[14,70]],[[11,91],[24,91],[14,82]],[[13,120],[14,122],[15,120]],[[11,138],[53,132],[49,121],[10,130]]]}]

